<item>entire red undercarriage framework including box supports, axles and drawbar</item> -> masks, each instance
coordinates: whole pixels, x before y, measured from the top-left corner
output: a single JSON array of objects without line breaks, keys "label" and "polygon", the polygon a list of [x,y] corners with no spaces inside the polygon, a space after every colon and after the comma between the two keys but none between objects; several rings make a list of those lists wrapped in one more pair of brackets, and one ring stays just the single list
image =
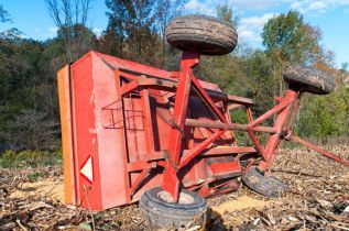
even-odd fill
[{"label": "entire red undercarriage framework including box supports, axles and drawbar", "polygon": [[[253,119],[251,106],[253,101],[231,96],[227,94],[221,94],[219,91],[204,89],[201,84],[193,74],[193,68],[199,63],[199,55],[195,53],[185,52],[183,53],[181,72],[179,73],[157,73],[156,68],[148,69],[146,66],[139,66],[141,69],[134,68],[133,63],[121,65],[121,69],[130,70],[133,73],[143,73],[144,75],[133,75],[124,73],[117,69],[116,78],[118,78],[120,86],[118,87],[119,100],[121,100],[121,108],[123,108],[122,97],[128,96],[132,91],[140,90],[140,96],[143,98],[142,108],[145,112],[144,116],[144,130],[145,130],[145,140],[146,140],[146,152],[149,154],[155,153],[154,151],[154,141],[152,138],[152,121],[150,112],[150,92],[149,89],[175,92],[175,102],[172,109],[172,116],[157,113],[165,122],[171,124],[170,132],[170,142],[168,142],[168,155],[165,155],[165,158],[157,158],[154,162],[151,161],[140,161],[135,163],[129,163],[128,161],[128,151],[127,147],[123,148],[124,153],[124,166],[128,168],[126,170],[126,188],[129,201],[133,194],[138,190],[138,187],[141,185],[142,180],[148,176],[151,168],[156,166],[163,166],[165,169],[163,172],[163,189],[168,191],[173,197],[175,202],[178,201],[178,196],[181,193],[181,180],[182,176],[179,172],[188,167],[188,164],[194,161],[196,157],[201,156],[215,156],[215,155],[237,155],[240,153],[260,153],[262,161],[259,163],[259,167],[262,170],[266,170],[271,167],[272,158],[274,152],[280,144],[281,139],[284,139],[285,132],[290,133],[290,128],[293,124],[298,103],[301,100],[301,94],[288,89],[285,94],[285,97],[275,97],[275,100],[279,101],[279,105],[273,109],[269,110],[258,119]],[[131,67],[132,66],[132,67]],[[138,69],[134,72],[134,69]],[[121,84],[121,77],[130,79],[128,84]],[[156,77],[156,78],[153,78]],[[187,119],[188,113],[188,100],[189,95],[195,89],[199,98],[207,105],[207,107],[214,112],[219,121],[212,120],[195,120]],[[168,100],[167,100],[168,101]],[[226,103],[225,107],[228,110],[221,111],[216,102]],[[230,106],[228,106],[228,102]],[[231,105],[232,103],[232,105]],[[238,124],[230,123],[227,120],[230,118],[230,110],[239,108],[241,106],[246,107],[246,113],[249,123],[248,124]],[[259,125],[271,117],[277,114],[273,128]],[[124,116],[123,116],[124,117]],[[146,118],[146,120],[145,120]],[[288,122],[287,122],[288,120]],[[287,124],[286,124],[287,122]],[[286,124],[286,125],[285,125]],[[207,136],[201,143],[197,144],[193,148],[185,150],[183,138],[185,127],[199,128],[199,129],[217,129],[218,131],[214,132],[211,135]],[[217,139],[223,136],[225,132],[228,130],[242,130],[247,131],[255,147],[209,147]],[[270,138],[266,142],[265,147],[260,143],[257,138],[255,132],[265,132],[270,133]],[[123,131],[124,133],[124,131]],[[123,134],[123,139],[126,134]],[[204,135],[205,136],[205,135]],[[314,144],[310,144],[306,141],[303,141],[298,136],[292,135],[290,140],[302,143],[337,162],[349,165],[349,162],[340,158],[337,155],[328,153]],[[189,145],[190,146],[190,145]],[[249,164],[249,167],[254,164],[252,161]],[[133,184],[130,183],[130,173],[140,172],[140,175],[137,177]]]}]

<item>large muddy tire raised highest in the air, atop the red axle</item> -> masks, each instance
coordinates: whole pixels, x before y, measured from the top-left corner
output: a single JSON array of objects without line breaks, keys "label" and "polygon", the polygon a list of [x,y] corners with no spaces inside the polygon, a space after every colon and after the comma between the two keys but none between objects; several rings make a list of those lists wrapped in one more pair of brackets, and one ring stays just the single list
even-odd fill
[{"label": "large muddy tire raised highest in the air, atop the red axle", "polygon": [[231,23],[205,15],[175,18],[167,24],[165,34],[174,47],[201,55],[227,55],[238,43]]}]

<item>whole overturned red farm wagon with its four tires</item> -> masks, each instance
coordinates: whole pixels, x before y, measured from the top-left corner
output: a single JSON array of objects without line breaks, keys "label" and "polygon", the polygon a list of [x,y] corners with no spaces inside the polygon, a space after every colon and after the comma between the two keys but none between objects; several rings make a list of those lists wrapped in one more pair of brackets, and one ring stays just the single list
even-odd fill
[{"label": "whole overturned red farm wagon with its four tires", "polygon": [[[231,24],[181,16],[167,25],[166,38],[183,51],[178,72],[90,52],[58,73],[66,202],[103,210],[140,201],[151,223],[181,226],[207,207],[205,197],[237,190],[240,178],[268,197],[285,191],[286,184],[264,174],[282,141],[349,165],[292,132],[302,94],[329,94],[334,78],[290,66],[284,96],[253,118],[253,100],[221,92],[193,72],[200,55],[236,47]],[[246,111],[247,124],[235,123],[237,109]],[[273,127],[263,125],[274,117]],[[238,130],[252,146],[238,145]],[[265,144],[260,133],[269,134]]]}]

